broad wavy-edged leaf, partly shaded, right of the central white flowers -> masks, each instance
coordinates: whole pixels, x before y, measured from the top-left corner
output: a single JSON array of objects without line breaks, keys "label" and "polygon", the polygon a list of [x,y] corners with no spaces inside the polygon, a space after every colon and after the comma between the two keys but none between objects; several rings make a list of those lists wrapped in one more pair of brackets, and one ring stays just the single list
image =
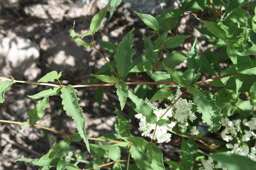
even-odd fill
[{"label": "broad wavy-edged leaf, partly shaded, right of the central white flowers", "polygon": [[197,106],[197,111],[202,113],[203,122],[210,126],[208,130],[216,132],[220,129],[222,114],[218,106],[216,106],[215,100],[211,98],[210,92],[200,91],[204,96],[194,96],[194,104]]}]

